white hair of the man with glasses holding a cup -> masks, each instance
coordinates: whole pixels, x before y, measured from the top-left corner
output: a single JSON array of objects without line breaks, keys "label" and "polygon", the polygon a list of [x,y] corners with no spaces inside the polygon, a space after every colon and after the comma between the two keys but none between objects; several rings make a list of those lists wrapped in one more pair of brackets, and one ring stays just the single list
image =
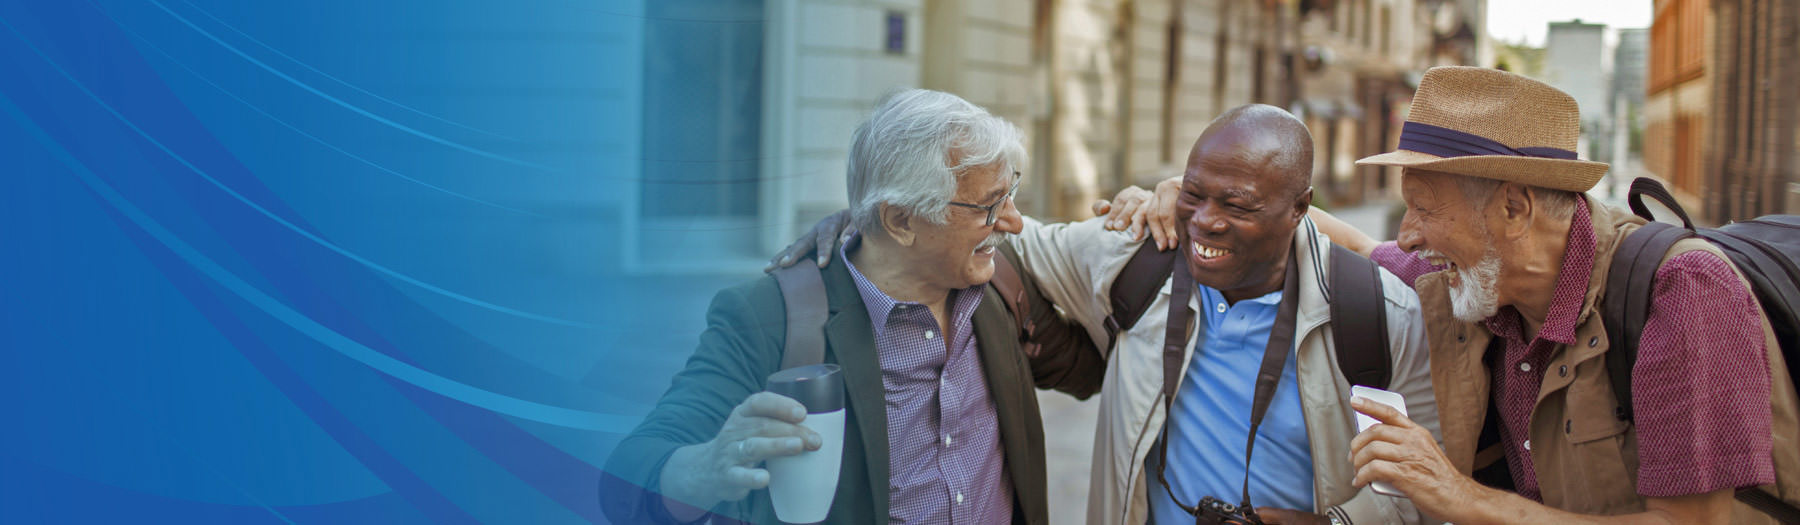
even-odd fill
[{"label": "white hair of the man with glasses holding a cup", "polygon": [[963,173],[1017,169],[1022,160],[1024,133],[1006,119],[945,92],[895,92],[857,126],[850,144],[850,214],[862,232],[882,228],[882,203],[943,225]]}]

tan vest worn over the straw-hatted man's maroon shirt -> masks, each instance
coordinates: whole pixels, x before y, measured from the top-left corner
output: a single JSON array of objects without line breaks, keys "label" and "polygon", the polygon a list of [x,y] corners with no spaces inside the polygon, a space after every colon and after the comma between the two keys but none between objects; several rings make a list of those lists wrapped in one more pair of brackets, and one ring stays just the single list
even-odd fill
[{"label": "tan vest worn over the straw-hatted man's maroon shirt", "polygon": [[[1638,437],[1624,419],[1620,403],[1606,370],[1607,338],[1595,307],[1606,289],[1607,266],[1625,234],[1643,225],[1643,219],[1588,200],[1593,219],[1595,259],[1588,279],[1586,302],[1577,315],[1575,343],[1550,351],[1537,405],[1530,419],[1532,467],[1537,473],[1544,505],[1580,514],[1627,514],[1643,511],[1638,496]],[[1706,241],[1676,243],[1669,257],[1685,252],[1724,255]],[[1730,261],[1730,259],[1726,259]],[[1735,271],[1735,268],[1733,268]],[[1742,280],[1742,273],[1739,273]],[[1748,282],[1746,282],[1748,288]],[[1492,376],[1483,363],[1489,340],[1494,338],[1481,324],[1451,316],[1445,275],[1427,273],[1417,282],[1418,300],[1426,316],[1426,340],[1431,343],[1431,383],[1436,390],[1438,415],[1444,430],[1444,453],[1463,475],[1505,460],[1498,446],[1476,451],[1476,439],[1489,408]],[[1771,365],[1773,455],[1778,473],[1800,473],[1800,421],[1796,421],[1795,390],[1782,363],[1780,347],[1768,320],[1762,336]],[[1498,417],[1498,415],[1494,415]],[[1800,480],[1787,480],[1778,494],[1800,494]],[[1764,514],[1737,503],[1733,523],[1773,523]]]}]

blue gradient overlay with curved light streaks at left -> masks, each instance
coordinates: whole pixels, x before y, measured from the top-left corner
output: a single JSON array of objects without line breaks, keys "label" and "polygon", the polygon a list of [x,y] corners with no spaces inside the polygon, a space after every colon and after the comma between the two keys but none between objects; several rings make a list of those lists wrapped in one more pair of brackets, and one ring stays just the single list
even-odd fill
[{"label": "blue gradient overlay with curved light streaks at left", "polygon": [[626,271],[653,22],[0,2],[0,523],[605,523],[760,270]]}]

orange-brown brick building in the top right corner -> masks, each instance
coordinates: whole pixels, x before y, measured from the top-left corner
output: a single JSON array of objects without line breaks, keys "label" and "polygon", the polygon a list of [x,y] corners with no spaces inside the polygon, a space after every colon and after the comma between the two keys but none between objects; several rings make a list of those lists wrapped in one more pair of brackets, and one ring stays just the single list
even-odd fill
[{"label": "orange-brown brick building in the top right corner", "polygon": [[1800,2],[1658,0],[1645,167],[1710,223],[1800,210]]}]

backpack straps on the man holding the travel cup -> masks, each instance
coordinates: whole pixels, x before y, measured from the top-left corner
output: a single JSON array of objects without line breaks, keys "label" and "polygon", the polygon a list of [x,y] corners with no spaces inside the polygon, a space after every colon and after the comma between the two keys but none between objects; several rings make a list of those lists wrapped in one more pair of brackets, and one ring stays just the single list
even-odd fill
[{"label": "backpack straps on the man holding the travel cup", "polygon": [[[1019,273],[1019,254],[1012,243],[999,246],[994,257],[994,279],[988,284],[1001,297],[1013,325],[1019,327],[1019,349],[1031,367],[1037,388],[1060,390],[1076,399],[1087,399],[1100,392],[1105,378],[1107,360],[1094,347],[1087,331],[1075,322],[1064,320],[1055,304],[1044,298],[1037,282],[1022,279]],[[803,259],[794,266],[774,271],[781,288],[781,302],[787,307],[787,343],[781,354],[781,370],[824,361],[824,322],[830,315],[830,300],[824,295],[824,282],[819,277],[819,264]]]}]

